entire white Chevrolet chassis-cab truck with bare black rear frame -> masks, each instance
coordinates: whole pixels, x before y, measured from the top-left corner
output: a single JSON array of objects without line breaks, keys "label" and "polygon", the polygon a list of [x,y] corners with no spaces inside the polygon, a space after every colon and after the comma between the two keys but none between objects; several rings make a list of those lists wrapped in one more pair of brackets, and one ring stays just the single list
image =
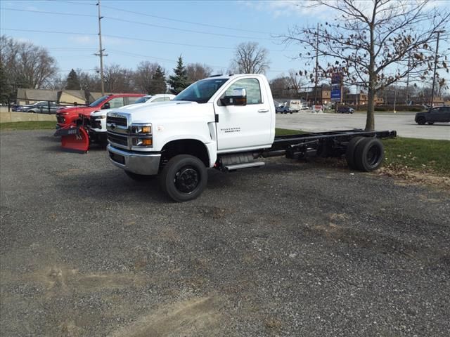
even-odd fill
[{"label": "entire white Chevrolet chassis-cab truck with bare black rear frame", "polygon": [[262,166],[263,157],[346,157],[352,169],[373,171],[383,161],[378,138],[396,136],[361,130],[275,136],[275,119],[264,75],[218,75],[170,102],[108,112],[108,153],[129,177],[158,175],[169,197],[188,201],[205,190],[207,169]]}]

